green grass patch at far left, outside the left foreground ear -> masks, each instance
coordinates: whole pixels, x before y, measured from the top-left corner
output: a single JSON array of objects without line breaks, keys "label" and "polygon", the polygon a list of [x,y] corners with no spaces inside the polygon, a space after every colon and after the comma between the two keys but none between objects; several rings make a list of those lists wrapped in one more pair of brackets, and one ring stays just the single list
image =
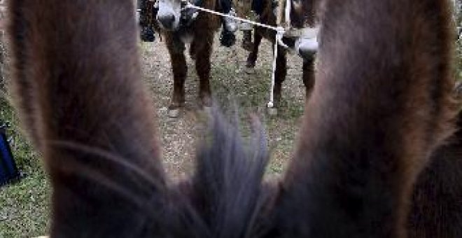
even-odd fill
[{"label": "green grass patch at far left, outside the left foreground ear", "polygon": [[36,237],[46,234],[50,183],[38,156],[19,133],[18,120],[5,97],[0,98],[1,120],[10,123],[7,131],[11,149],[23,178],[0,188],[0,237]]}]

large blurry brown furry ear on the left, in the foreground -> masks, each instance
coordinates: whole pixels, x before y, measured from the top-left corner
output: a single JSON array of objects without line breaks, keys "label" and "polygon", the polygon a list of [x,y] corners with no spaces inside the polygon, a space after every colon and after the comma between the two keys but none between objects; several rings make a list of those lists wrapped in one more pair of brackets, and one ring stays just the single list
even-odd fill
[{"label": "large blurry brown furry ear on the left, in the foreground", "polygon": [[52,237],[142,237],[162,221],[166,188],[132,1],[8,10],[15,96],[52,180]]}]

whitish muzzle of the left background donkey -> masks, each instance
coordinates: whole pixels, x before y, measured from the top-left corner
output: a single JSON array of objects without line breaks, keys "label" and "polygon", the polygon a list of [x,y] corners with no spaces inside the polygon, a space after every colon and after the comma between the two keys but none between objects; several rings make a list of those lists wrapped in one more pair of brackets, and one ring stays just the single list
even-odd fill
[{"label": "whitish muzzle of the left background donkey", "polygon": [[158,21],[160,26],[169,31],[179,27],[181,17],[181,0],[158,0]]}]

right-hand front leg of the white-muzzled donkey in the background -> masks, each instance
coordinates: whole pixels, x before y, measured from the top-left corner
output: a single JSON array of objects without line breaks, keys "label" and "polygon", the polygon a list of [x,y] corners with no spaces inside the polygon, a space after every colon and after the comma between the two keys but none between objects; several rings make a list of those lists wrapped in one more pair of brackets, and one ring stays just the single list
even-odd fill
[{"label": "right-hand front leg of the white-muzzled donkey in the background", "polygon": [[[210,90],[210,55],[213,43],[213,35],[207,37],[202,47],[196,51],[196,71],[199,76],[199,99],[200,106],[204,109],[211,106],[211,90]],[[198,45],[196,45],[197,47]]]}]

